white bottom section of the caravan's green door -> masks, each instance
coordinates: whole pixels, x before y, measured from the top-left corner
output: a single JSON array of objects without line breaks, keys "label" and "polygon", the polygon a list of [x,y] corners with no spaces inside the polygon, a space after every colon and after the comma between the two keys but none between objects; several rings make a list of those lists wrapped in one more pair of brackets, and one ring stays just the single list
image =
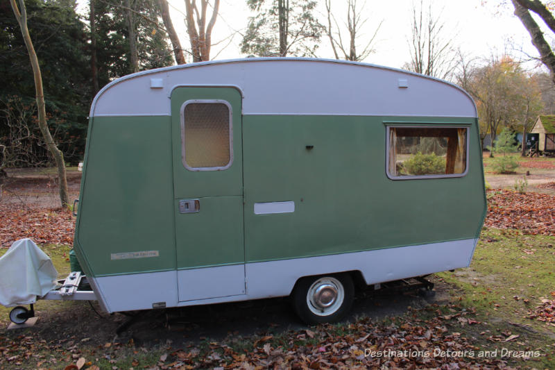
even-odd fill
[{"label": "white bottom section of the caravan's green door", "polygon": [[178,271],[179,301],[245,294],[245,265]]}]

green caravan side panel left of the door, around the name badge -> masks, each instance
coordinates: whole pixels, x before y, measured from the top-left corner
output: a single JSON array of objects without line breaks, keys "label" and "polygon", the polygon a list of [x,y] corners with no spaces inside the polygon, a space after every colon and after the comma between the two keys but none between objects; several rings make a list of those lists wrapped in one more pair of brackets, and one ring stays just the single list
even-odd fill
[{"label": "green caravan side panel left of the door, around the name badge", "polygon": [[[89,124],[75,250],[89,276],[176,268],[169,117]],[[157,257],[112,260],[112,253]]]}]

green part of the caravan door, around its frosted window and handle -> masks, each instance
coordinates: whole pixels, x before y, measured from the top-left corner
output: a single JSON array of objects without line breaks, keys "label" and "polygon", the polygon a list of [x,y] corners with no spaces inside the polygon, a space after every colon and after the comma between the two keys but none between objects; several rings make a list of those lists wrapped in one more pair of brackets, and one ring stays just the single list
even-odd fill
[{"label": "green part of the caravan door, around its frosted window and handle", "polygon": [[[182,162],[182,104],[224,100],[232,108],[233,160],[221,171],[190,171]],[[244,263],[241,94],[232,87],[178,87],[171,94],[173,189],[177,268]],[[198,199],[200,211],[180,213],[181,199]]]}]

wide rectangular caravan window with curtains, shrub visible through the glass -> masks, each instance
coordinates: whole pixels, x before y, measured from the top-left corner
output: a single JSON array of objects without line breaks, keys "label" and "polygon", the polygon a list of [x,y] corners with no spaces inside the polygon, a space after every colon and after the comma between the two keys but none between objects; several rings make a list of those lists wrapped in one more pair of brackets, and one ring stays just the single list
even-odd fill
[{"label": "wide rectangular caravan window with curtains, shrub visible through the glass", "polygon": [[387,128],[387,176],[393,180],[459,177],[468,167],[468,128]]}]

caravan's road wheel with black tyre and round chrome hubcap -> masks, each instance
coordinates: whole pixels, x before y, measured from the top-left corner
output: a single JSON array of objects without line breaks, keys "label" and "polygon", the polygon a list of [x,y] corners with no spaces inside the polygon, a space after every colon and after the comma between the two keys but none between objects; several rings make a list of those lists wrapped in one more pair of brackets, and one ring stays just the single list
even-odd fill
[{"label": "caravan's road wheel with black tyre and round chrome hubcap", "polygon": [[305,323],[336,322],[347,314],[355,296],[348,274],[301,278],[292,298],[295,310]]}]

